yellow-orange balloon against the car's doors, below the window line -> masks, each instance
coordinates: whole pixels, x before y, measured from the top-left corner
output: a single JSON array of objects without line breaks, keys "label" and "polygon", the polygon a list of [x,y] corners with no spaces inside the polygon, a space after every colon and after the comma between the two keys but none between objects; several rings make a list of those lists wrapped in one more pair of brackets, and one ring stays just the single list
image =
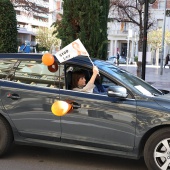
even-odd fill
[{"label": "yellow-orange balloon against the car's doors, below the window line", "polygon": [[64,116],[71,108],[72,105],[65,101],[56,101],[51,106],[51,111],[56,116]]}]

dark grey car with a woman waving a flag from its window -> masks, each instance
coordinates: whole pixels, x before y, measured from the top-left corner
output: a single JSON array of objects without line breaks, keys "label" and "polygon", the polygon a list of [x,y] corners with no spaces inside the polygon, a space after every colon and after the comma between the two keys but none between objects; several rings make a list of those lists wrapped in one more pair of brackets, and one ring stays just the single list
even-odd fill
[{"label": "dark grey car with a woman waving a flag from its window", "polygon": [[[170,92],[108,62],[92,59],[107,94],[71,90],[71,75],[92,74],[88,57],[51,70],[42,54],[0,54],[0,156],[13,142],[144,160],[149,170],[170,168]],[[72,110],[55,116],[56,100]]]}]

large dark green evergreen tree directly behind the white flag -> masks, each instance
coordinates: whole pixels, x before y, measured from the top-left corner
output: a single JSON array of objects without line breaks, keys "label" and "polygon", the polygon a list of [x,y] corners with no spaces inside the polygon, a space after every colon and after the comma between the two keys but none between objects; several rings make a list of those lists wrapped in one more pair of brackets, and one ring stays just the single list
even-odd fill
[{"label": "large dark green evergreen tree directly behind the white flag", "polygon": [[106,59],[109,0],[64,0],[63,10],[54,24],[62,47],[79,38],[92,57]]}]

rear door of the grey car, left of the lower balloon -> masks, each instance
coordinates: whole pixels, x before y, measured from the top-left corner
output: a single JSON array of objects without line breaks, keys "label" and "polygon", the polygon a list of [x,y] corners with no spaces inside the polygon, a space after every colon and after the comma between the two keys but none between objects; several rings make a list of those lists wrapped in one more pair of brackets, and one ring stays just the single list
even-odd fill
[{"label": "rear door of the grey car, left of the lower balloon", "polygon": [[[28,64],[28,63],[27,63]],[[53,83],[52,74],[37,70],[37,62],[20,63],[12,81],[1,80],[1,101],[21,136],[59,141],[60,118],[51,112],[51,105],[59,98],[59,89],[46,87]],[[41,65],[41,64],[40,64]],[[39,64],[38,64],[39,66]],[[29,71],[28,71],[29,70]],[[37,74],[33,71],[37,70]]]}]

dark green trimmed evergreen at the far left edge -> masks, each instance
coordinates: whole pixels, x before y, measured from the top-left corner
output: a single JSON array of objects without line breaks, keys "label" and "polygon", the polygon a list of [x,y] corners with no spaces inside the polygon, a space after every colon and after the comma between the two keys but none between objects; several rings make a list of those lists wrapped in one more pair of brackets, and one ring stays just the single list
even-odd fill
[{"label": "dark green trimmed evergreen at the far left edge", "polygon": [[17,52],[17,20],[12,3],[0,1],[0,53]]}]

